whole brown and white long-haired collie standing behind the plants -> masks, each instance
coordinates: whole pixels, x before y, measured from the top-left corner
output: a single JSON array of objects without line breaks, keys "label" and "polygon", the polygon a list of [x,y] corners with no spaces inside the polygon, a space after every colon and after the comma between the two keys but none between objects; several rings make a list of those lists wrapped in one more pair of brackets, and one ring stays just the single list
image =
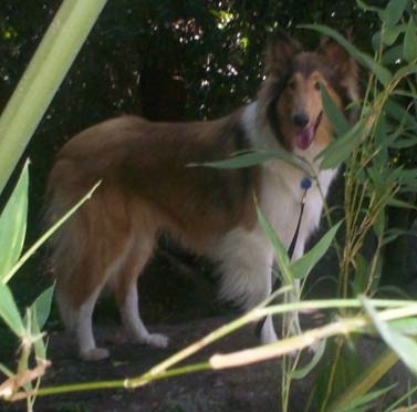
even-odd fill
[{"label": "whole brown and white long-haired collie standing behind the plants", "polygon": [[[303,195],[300,182],[312,176],[293,258],[302,256],[336,174],[321,171],[317,161],[332,138],[322,87],[348,116],[357,99],[357,66],[347,52],[329,39],[306,52],[277,32],[258,99],[232,114],[189,123],[126,115],[94,125],[62,147],[48,183],[49,224],[102,181],[51,240],[60,312],[76,334],[82,359],[108,356],[96,347],[92,327],[106,286],[135,341],[167,346],[165,336],[149,333],[143,323],[137,293],[137,278],[161,233],[218,265],[222,298],[249,310],[270,295],[274,255],[256,203],[288,247]],[[269,159],[239,169],[189,167],[253,148],[285,151],[299,165]],[[270,318],[260,339],[277,339]]]}]

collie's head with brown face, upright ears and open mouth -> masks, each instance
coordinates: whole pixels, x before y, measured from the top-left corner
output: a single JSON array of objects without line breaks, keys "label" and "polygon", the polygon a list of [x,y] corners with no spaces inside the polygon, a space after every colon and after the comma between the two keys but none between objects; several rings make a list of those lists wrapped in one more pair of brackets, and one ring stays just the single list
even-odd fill
[{"label": "collie's head with brown face, upright ears and open mouth", "polygon": [[323,86],[340,109],[358,97],[357,65],[350,54],[329,39],[316,51],[305,52],[296,40],[275,32],[267,49],[260,100],[265,121],[286,150],[302,153],[314,146],[319,151],[330,143]]}]

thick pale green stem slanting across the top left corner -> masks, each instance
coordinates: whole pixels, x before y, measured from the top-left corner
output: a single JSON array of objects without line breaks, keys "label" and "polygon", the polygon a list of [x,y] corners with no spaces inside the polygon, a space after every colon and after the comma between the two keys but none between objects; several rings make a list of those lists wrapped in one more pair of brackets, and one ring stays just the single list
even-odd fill
[{"label": "thick pale green stem slanting across the top left corner", "polygon": [[106,0],[64,0],[0,117],[0,193]]}]

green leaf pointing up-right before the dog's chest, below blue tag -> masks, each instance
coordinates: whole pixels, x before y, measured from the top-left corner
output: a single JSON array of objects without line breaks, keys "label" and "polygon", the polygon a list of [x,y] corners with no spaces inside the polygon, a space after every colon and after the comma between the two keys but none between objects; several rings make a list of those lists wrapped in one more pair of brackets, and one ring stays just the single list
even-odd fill
[{"label": "green leaf pointing up-right before the dog's chest, below blue tag", "polygon": [[291,272],[295,279],[305,278],[317,261],[327,251],[342,222],[334,225],[304,256],[291,264]]}]

